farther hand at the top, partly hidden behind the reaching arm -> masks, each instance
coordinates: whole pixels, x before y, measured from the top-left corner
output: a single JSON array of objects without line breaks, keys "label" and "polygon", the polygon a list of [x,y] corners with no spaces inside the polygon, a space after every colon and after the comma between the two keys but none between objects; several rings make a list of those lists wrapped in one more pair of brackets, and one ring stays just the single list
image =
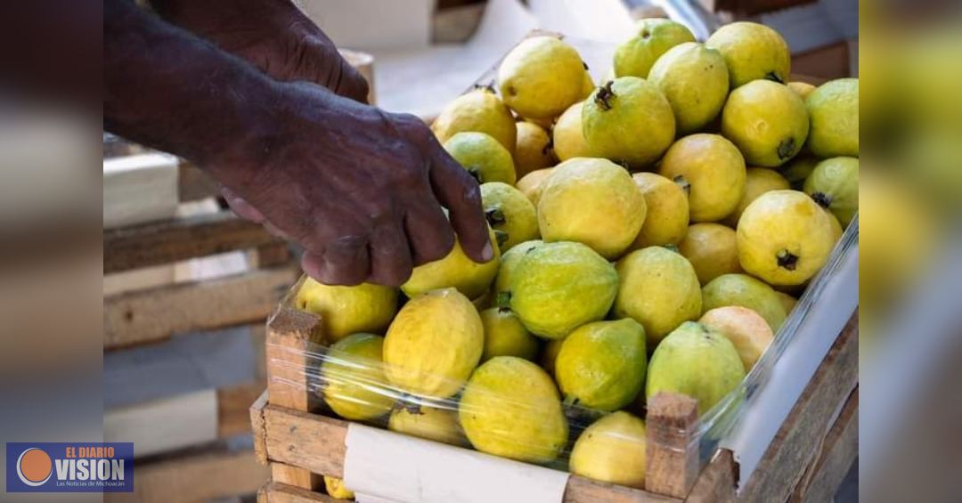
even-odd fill
[{"label": "farther hand at the top, partly hidden behind the reaching arm", "polygon": [[165,19],[280,81],[308,81],[367,103],[367,81],[290,0],[154,0]]}]

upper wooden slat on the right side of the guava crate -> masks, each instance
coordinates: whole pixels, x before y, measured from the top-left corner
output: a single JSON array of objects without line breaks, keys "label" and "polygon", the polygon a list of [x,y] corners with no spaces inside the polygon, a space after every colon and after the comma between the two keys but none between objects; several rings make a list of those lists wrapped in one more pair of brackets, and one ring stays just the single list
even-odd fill
[{"label": "upper wooden slat on the right side of the guava crate", "polygon": [[745,501],[785,501],[796,489],[808,465],[815,462],[829,421],[858,385],[858,314],[852,314],[822,365],[802,391],[758,468],[747,480]]}]

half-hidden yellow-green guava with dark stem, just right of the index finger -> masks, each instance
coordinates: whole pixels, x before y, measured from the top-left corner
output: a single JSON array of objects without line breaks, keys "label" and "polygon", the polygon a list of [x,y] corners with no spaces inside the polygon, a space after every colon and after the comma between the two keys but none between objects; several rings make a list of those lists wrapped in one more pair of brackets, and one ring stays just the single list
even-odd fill
[{"label": "half-hidden yellow-green guava with dark stem, just right of the index finger", "polygon": [[538,238],[535,206],[519,189],[501,182],[481,184],[481,203],[501,253]]}]

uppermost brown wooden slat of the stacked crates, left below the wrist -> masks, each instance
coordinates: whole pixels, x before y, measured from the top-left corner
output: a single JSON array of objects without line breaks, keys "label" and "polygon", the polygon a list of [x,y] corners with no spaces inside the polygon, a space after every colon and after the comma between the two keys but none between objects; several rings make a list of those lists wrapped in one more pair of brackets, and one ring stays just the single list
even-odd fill
[{"label": "uppermost brown wooden slat of the stacked crates, left below the wrist", "polygon": [[280,242],[228,211],[104,231],[104,274]]}]

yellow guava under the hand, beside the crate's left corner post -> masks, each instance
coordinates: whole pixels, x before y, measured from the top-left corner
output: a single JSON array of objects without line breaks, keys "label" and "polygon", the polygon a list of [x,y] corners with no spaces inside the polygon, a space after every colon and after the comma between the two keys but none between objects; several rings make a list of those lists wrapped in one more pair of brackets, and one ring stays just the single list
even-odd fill
[{"label": "yellow guava under the hand, beside the crate's left corner post", "polygon": [[384,333],[397,313],[397,289],[371,283],[329,286],[307,278],[294,305],[320,316],[316,342],[335,342],[356,332]]}]

